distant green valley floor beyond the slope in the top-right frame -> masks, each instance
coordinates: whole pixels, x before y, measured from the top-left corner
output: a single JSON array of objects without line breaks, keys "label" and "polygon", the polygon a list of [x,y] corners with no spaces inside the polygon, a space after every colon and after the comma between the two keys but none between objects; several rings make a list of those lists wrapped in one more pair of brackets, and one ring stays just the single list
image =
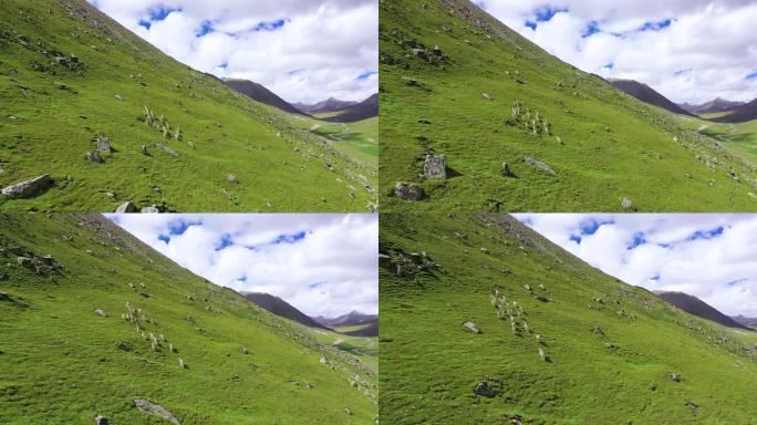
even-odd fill
[{"label": "distant green valley floor beyond the slope in the top-right frame", "polygon": [[724,124],[692,117],[680,117],[683,125],[718,141],[726,149],[745,158],[757,168],[757,121]]}]

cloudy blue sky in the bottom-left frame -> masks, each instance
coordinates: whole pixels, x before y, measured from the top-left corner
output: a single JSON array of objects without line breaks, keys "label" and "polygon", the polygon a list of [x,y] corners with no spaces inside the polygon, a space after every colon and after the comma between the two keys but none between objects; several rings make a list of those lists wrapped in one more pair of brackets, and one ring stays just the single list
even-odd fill
[{"label": "cloudy blue sky in the bottom-left frame", "polygon": [[311,315],[378,311],[376,215],[107,215],[216,284]]}]

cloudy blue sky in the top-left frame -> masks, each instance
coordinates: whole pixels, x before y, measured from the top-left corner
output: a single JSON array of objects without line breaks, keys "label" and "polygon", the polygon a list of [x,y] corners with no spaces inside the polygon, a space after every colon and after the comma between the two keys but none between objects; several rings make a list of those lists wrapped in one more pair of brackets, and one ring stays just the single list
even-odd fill
[{"label": "cloudy blue sky in the top-left frame", "polygon": [[[375,0],[90,0],[166,54],[289,102],[378,91]],[[297,72],[292,72],[292,71]]]}]

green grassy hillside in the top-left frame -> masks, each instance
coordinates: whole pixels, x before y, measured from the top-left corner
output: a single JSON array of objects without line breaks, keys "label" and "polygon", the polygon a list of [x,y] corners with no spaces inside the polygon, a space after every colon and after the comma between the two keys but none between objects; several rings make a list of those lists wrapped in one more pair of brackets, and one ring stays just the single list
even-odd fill
[{"label": "green grassy hillside in the top-left frame", "polygon": [[[0,10],[0,186],[54,179],[35,198],[0,196],[0,210],[375,207],[375,162],[164,55],[86,1],[2,0]],[[85,159],[97,137],[114,149],[100,164]]]}]

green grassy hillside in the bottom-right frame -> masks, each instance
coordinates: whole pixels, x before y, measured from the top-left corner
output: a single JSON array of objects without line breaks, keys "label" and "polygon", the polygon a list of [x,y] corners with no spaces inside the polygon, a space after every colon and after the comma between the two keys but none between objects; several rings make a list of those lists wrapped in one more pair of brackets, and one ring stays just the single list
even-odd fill
[{"label": "green grassy hillside in the bottom-right frame", "polygon": [[[380,272],[382,421],[748,424],[757,415],[757,333],[686,314],[509,216],[386,214],[380,240],[390,256]],[[476,395],[479,383],[494,396]]]}]

